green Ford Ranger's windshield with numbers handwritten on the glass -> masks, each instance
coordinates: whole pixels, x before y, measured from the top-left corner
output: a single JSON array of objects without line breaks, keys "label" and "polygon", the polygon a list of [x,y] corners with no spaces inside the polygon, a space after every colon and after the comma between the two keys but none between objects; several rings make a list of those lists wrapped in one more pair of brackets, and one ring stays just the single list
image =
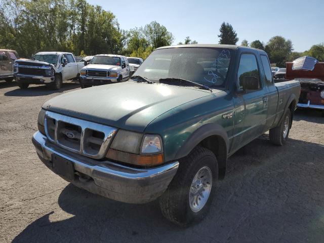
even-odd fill
[{"label": "green Ford Ranger's windshield with numbers handwritten on the glass", "polygon": [[152,52],[135,75],[158,82],[160,78],[183,78],[208,87],[223,87],[231,49],[167,48]]}]

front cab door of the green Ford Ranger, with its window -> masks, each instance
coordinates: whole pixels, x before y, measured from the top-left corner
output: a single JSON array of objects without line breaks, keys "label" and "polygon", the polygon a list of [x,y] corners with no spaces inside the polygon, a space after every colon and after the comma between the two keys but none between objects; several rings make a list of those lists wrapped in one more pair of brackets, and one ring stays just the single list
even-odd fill
[{"label": "front cab door of the green Ford Ranger, with its window", "polygon": [[[245,89],[242,80],[252,77],[258,80],[256,89]],[[254,53],[242,53],[236,75],[235,118],[233,150],[260,136],[265,129],[268,94],[260,78],[260,68]]]}]

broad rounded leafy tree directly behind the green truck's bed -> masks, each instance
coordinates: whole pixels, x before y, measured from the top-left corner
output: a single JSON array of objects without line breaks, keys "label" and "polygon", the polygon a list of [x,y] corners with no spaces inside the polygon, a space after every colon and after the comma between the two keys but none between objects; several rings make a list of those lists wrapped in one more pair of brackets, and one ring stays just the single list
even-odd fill
[{"label": "broad rounded leafy tree directly behind the green truck's bed", "polygon": [[265,46],[271,63],[276,63],[279,67],[286,66],[292,51],[293,44],[290,39],[286,40],[282,36],[273,36]]}]

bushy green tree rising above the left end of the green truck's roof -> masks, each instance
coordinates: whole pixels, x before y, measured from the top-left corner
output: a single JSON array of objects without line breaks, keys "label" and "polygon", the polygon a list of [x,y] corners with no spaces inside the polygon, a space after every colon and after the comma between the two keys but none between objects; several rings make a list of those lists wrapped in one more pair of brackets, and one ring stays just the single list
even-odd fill
[{"label": "bushy green tree rising above the left end of the green truck's roof", "polygon": [[170,46],[174,41],[174,36],[167,30],[164,25],[152,21],[140,28],[140,31],[145,36],[146,40],[153,49],[163,46]]}]

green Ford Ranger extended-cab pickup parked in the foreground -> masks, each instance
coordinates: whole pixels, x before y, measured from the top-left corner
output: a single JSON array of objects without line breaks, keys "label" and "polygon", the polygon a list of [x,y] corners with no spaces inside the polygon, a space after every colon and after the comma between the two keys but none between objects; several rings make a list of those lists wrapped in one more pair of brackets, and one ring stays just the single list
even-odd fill
[{"label": "green Ford Ranger extended-cab pickup parked in the foreground", "polygon": [[128,82],[46,102],[32,141],[75,186],[126,203],[158,198],[166,218],[188,225],[207,214],[230,155],[267,131],[287,142],[299,95],[296,80],[274,84],[264,51],[163,47]]}]

